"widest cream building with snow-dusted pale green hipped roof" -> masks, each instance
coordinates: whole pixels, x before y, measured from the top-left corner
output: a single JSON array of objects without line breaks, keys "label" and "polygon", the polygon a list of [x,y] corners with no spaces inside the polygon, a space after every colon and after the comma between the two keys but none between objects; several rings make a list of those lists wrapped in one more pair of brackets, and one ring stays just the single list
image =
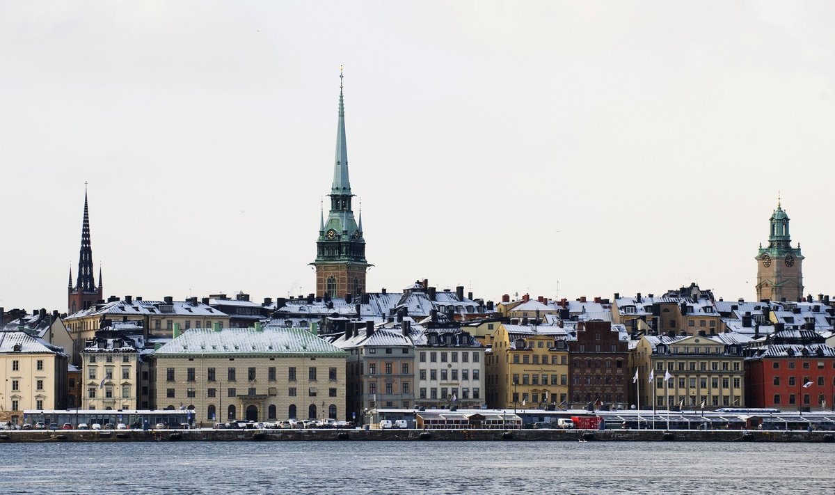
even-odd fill
[{"label": "widest cream building with snow-dusted pale green hipped roof", "polygon": [[347,419],[348,353],[306,329],[190,329],[154,351],[155,406],[195,423]]}]

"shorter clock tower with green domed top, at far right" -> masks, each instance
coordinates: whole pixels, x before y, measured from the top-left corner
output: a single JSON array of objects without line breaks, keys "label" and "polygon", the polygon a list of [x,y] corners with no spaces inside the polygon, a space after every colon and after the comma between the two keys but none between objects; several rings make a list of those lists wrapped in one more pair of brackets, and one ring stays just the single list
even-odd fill
[{"label": "shorter clock tower with green domed top, at far right", "polygon": [[797,301],[803,297],[803,256],[800,244],[792,247],[788,233],[789,218],[779,200],[769,219],[768,247],[757,254],[757,300]]}]

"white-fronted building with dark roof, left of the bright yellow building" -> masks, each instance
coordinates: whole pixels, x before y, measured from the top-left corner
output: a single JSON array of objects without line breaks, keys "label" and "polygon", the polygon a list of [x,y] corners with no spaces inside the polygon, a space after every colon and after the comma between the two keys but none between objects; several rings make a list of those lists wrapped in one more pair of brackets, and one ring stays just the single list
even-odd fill
[{"label": "white-fronted building with dark roof, left of the bright yellow building", "polygon": [[417,370],[415,406],[481,408],[486,404],[486,348],[458,322],[437,317],[424,325],[423,330],[412,333]]}]

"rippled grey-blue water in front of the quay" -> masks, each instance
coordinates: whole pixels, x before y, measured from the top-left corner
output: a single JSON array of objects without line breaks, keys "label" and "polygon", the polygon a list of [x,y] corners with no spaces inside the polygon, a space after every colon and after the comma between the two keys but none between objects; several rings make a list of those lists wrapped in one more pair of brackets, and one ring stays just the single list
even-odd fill
[{"label": "rippled grey-blue water in front of the quay", "polygon": [[0,446],[3,493],[832,492],[835,444],[545,441]]}]

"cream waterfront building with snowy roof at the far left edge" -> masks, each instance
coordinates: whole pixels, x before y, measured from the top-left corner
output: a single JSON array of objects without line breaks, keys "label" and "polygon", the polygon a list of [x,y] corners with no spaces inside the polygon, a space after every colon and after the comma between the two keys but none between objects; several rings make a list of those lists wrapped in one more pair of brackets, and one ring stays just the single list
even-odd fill
[{"label": "cream waterfront building with snowy roof at the far left edge", "polygon": [[0,422],[22,423],[24,409],[67,406],[68,355],[26,332],[0,332]]}]

